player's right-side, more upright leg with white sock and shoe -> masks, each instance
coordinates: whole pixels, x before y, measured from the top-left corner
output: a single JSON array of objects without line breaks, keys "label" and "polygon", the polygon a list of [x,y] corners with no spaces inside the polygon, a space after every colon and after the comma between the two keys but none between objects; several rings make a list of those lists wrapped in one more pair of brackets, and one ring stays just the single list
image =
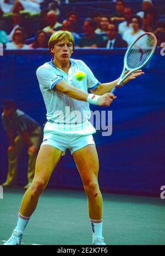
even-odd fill
[{"label": "player's right-side, more upright leg with white sock and shoe", "polygon": [[75,151],[73,157],[88,198],[93,244],[105,244],[102,241],[102,195],[98,185],[99,164],[96,147],[87,145]]}]

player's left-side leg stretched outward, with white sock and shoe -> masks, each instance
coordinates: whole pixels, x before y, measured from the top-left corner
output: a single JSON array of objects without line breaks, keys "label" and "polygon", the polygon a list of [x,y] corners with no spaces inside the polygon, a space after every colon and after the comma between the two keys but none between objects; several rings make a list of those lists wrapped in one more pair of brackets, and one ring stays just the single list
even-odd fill
[{"label": "player's left-side leg stretched outward, with white sock and shoe", "polygon": [[46,188],[52,171],[61,159],[61,156],[61,150],[51,145],[41,146],[36,160],[34,180],[25,192],[18,214],[17,226],[9,240],[4,243],[5,245],[20,244],[27,222],[37,206],[38,198]]}]

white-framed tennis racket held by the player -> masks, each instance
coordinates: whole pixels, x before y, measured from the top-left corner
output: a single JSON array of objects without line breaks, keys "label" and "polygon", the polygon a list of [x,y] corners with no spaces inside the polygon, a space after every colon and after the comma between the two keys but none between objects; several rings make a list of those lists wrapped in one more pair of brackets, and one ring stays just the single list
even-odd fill
[{"label": "white-framed tennis racket held by the player", "polygon": [[[112,93],[116,88],[122,86],[123,81],[138,69],[144,67],[152,58],[156,50],[157,38],[153,33],[146,32],[138,37],[129,46],[124,56],[124,68],[120,75],[117,85],[112,89]],[[127,72],[127,73],[125,73]]]}]

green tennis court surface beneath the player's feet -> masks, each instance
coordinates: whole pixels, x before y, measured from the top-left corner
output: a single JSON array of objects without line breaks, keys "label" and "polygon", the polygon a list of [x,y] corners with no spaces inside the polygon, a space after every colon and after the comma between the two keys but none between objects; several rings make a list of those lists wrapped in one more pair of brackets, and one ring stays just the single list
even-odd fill
[{"label": "green tennis court surface beneath the player's feet", "polygon": [[[0,243],[15,227],[24,190],[4,188],[0,199]],[[103,193],[106,244],[165,244],[165,200]],[[46,189],[27,225],[23,244],[87,245],[92,232],[84,191]]]}]

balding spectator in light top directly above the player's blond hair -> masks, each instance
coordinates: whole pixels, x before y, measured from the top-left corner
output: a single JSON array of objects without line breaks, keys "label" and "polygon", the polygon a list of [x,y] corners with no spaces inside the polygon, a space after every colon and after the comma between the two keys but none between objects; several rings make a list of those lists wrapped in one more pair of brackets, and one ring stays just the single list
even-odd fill
[{"label": "balding spectator in light top directly above the player's blond hair", "polygon": [[62,26],[62,24],[58,22],[58,15],[56,12],[54,12],[54,10],[50,10],[46,14],[46,20],[48,22],[48,26],[43,28],[43,31],[48,34],[52,35],[56,30],[58,30],[57,28]]}]

